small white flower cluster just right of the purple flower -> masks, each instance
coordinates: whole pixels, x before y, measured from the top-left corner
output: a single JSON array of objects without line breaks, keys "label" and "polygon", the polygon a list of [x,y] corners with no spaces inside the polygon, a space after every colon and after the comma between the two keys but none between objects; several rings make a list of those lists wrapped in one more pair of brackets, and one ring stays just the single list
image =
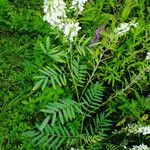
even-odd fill
[{"label": "small white flower cluster just right of the purple flower", "polygon": [[134,22],[130,22],[130,23],[121,23],[120,24],[120,27],[118,28],[115,28],[115,33],[118,35],[118,36],[122,36],[124,35],[126,32],[128,32],[130,30],[130,27],[133,26],[133,27],[137,27],[138,23],[134,23]]}]

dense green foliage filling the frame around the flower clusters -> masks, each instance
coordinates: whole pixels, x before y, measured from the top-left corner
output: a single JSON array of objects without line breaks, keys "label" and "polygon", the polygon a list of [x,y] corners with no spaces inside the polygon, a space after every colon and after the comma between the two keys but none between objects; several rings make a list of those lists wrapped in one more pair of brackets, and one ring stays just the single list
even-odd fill
[{"label": "dense green foliage filling the frame around the flower clusters", "polygon": [[[113,134],[150,124],[148,4],[87,2],[70,44],[43,21],[43,0],[0,0],[0,149],[150,147],[148,136]],[[137,28],[111,36],[129,21]],[[101,26],[102,40],[89,46]]]}]

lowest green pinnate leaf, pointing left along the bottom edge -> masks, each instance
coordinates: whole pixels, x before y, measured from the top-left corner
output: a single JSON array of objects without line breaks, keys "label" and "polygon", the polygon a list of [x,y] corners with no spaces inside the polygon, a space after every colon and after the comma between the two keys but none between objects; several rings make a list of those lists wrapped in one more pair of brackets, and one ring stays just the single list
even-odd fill
[{"label": "lowest green pinnate leaf, pointing left along the bottom edge", "polygon": [[24,132],[23,135],[32,138],[31,143],[38,145],[40,149],[48,150],[57,150],[62,144],[73,139],[76,139],[76,142],[78,142],[80,138],[83,139],[83,136],[78,132],[77,135],[72,135],[70,130],[60,124],[53,127],[47,124],[43,131],[27,131]]}]

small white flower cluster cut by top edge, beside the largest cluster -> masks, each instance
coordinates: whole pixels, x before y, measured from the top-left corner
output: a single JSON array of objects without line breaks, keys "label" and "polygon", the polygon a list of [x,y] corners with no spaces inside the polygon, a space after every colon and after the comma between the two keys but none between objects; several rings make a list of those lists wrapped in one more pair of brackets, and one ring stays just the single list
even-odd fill
[{"label": "small white flower cluster cut by top edge, beside the largest cluster", "polygon": [[87,0],[73,0],[71,9],[74,9],[74,11],[78,12],[78,14],[81,14],[84,10],[84,4],[87,2]]}]

